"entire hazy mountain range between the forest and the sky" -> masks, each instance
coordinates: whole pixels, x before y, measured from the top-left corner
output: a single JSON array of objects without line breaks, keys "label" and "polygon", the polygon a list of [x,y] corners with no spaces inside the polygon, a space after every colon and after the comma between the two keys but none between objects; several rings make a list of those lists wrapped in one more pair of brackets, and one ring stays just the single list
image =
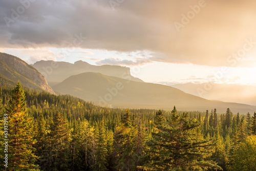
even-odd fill
[{"label": "entire hazy mountain range between the forest and the sky", "polygon": [[[35,68],[36,69],[35,69]],[[38,72],[38,71],[39,72]],[[48,86],[46,79],[50,81]],[[109,106],[111,108],[147,108],[184,111],[206,111],[217,108],[218,113],[224,113],[230,108],[233,113],[253,113],[256,106],[241,103],[207,100],[198,97],[197,87],[193,84],[175,85],[177,88],[161,84],[146,83],[130,74],[130,68],[120,66],[93,66],[87,62],[77,61],[74,64],[68,62],[38,61],[34,65],[28,65],[22,59],[15,56],[0,53],[0,84],[15,85],[20,82],[29,88],[44,90],[56,94],[70,94],[81,99],[92,101],[95,104]],[[204,86],[204,85],[201,85]],[[229,85],[228,85],[229,86]],[[218,89],[217,89],[218,88]],[[231,91],[233,89],[233,92]],[[214,85],[210,93],[215,98],[225,99],[242,95],[252,95],[256,92],[253,88],[243,87],[218,87]],[[53,92],[54,90],[54,92]],[[231,93],[232,92],[232,93]],[[250,93],[251,92],[251,93]],[[223,94],[227,93],[227,96]],[[231,93],[228,95],[228,93]],[[236,98],[239,99],[239,98]],[[246,98],[244,98],[246,101]],[[242,102],[242,98],[241,98]],[[252,103],[254,104],[254,103]]]}]

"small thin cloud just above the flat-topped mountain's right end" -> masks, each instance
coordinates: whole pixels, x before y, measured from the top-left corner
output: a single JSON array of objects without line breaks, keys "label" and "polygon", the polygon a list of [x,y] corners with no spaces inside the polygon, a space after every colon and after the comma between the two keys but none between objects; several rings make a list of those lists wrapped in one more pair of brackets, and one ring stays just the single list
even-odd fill
[{"label": "small thin cloud just above the flat-topped mountain's right end", "polygon": [[97,61],[97,65],[118,65],[118,66],[138,66],[144,65],[146,63],[151,63],[152,61],[145,58],[137,58],[136,61],[127,60],[122,58],[106,58],[100,61]]}]

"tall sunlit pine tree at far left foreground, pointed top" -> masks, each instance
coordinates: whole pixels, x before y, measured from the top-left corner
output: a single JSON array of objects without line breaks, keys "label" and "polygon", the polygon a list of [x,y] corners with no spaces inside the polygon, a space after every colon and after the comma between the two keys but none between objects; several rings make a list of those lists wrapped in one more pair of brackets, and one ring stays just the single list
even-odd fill
[{"label": "tall sunlit pine tree at far left foreground, pointed top", "polygon": [[25,93],[17,83],[12,91],[12,99],[9,101],[8,111],[8,138],[9,138],[9,161],[8,170],[36,170],[37,156],[32,146],[34,139],[33,119],[28,116]]}]

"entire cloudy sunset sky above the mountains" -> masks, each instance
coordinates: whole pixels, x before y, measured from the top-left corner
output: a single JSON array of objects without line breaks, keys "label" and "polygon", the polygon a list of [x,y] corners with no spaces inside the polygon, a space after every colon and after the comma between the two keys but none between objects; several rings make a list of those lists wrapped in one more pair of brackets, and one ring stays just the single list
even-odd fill
[{"label": "entire cloudy sunset sky above the mountains", "polygon": [[0,52],[86,61],[160,83],[256,86],[253,0],[0,1]]}]

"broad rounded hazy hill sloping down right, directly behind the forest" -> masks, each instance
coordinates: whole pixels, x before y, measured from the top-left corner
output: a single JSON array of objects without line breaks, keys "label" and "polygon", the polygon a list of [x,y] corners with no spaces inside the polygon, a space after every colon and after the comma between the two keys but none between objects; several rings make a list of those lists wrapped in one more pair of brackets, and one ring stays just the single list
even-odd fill
[{"label": "broad rounded hazy hill sloping down right, directly behind the forest", "polygon": [[227,108],[240,113],[256,111],[256,106],[207,100],[161,84],[130,81],[92,72],[70,76],[52,88],[60,94],[70,94],[113,108],[170,110],[176,105],[177,109],[186,111],[214,108],[222,113]]}]

